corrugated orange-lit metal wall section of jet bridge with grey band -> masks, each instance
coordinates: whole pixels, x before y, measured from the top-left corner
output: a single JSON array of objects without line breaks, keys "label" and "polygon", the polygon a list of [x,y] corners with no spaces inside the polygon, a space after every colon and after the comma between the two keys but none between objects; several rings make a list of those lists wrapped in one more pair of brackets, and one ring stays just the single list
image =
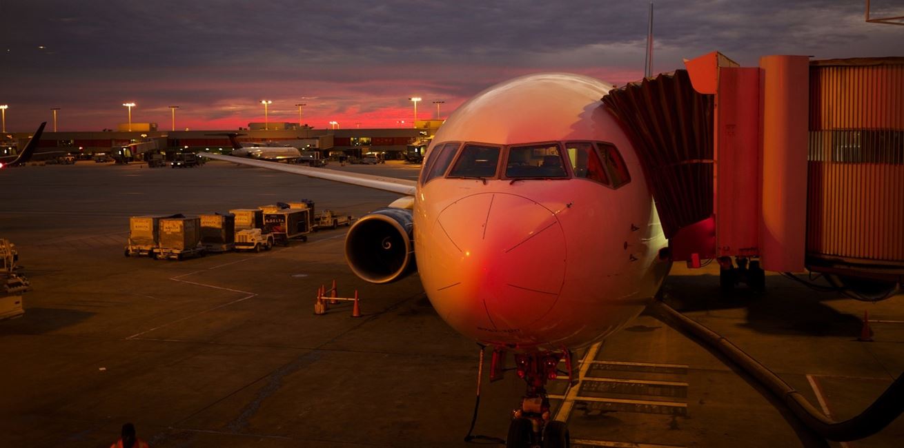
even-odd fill
[{"label": "corrugated orange-lit metal wall section of jet bridge with grey band", "polygon": [[807,265],[904,280],[904,58],[813,61]]}]

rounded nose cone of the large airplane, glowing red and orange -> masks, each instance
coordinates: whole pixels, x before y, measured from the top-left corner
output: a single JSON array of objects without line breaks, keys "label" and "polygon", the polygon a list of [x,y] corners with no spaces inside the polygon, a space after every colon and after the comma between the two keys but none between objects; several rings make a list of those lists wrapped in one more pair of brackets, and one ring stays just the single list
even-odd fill
[{"label": "rounded nose cone of the large airplane, glowing red and orange", "polygon": [[[459,303],[462,320],[482,331],[523,331],[550,311],[565,276],[559,219],[536,201],[482,193],[443,210],[431,232],[445,252],[436,269],[441,301]],[[456,321],[455,313],[447,319]],[[476,319],[485,315],[485,319]],[[450,322],[452,323],[452,322]]]}]

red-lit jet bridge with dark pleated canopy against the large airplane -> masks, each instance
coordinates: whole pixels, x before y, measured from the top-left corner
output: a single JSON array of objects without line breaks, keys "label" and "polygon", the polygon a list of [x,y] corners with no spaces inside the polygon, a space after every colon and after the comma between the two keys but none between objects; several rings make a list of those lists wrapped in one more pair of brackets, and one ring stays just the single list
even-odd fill
[{"label": "red-lit jet bridge with dark pleated canopy against the large airplane", "polygon": [[904,282],[904,58],[739,67],[712,52],[685,65],[603,98],[673,260],[758,258],[871,291]]}]

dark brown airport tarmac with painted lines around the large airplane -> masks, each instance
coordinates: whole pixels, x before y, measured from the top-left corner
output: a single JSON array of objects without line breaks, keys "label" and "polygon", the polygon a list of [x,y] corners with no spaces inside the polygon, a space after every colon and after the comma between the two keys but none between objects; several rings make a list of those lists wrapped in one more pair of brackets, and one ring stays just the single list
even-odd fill
[{"label": "dark brown airport tarmac with painted lines around the large airplane", "polygon": [[[419,170],[328,168],[409,179]],[[354,276],[347,228],[259,254],[123,257],[133,215],[309,199],[360,217],[396,195],[220,162],[25,166],[0,172],[0,191],[0,238],[14,242],[33,287],[24,316],[0,322],[0,446],[107,447],[127,422],[154,448],[466,447],[506,435],[521,380],[484,378],[473,434],[486,438],[466,443],[479,348],[439,319],[417,274],[391,285]],[[341,296],[358,292],[361,317],[352,303],[314,314],[317,288],[333,281]],[[765,294],[723,297],[712,263],[673,266],[664,297],[836,420],[904,371],[901,295],[862,303],[767,275]],[[864,312],[871,342],[857,341]],[[550,387],[572,446],[904,440],[899,418],[866,439],[826,443],[737,366],[649,314],[579,357],[579,386]]]}]

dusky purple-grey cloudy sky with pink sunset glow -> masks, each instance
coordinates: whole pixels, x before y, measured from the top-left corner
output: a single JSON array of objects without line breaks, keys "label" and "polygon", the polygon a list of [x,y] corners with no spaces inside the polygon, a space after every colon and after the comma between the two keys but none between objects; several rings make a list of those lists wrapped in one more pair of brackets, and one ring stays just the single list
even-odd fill
[{"label": "dusky purple-grey cloudy sky with pink sunset glow", "polygon": [[[904,26],[866,23],[862,0],[657,0],[654,73],[721,51],[904,56]],[[617,85],[644,74],[649,1],[5,0],[0,105],[8,132],[99,131],[127,122],[238,129],[411,126],[541,71]],[[875,16],[904,0],[871,0]],[[404,122],[404,123],[403,123]]]}]

